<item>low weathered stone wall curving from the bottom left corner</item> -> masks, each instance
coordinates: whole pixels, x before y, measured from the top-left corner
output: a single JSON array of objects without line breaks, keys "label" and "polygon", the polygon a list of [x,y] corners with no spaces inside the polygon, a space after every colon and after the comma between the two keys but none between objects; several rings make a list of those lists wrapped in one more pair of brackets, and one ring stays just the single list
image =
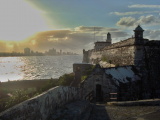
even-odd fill
[{"label": "low weathered stone wall curving from the bottom left corner", "polygon": [[0,113],[0,120],[47,120],[58,107],[83,99],[80,88],[57,86]]}]

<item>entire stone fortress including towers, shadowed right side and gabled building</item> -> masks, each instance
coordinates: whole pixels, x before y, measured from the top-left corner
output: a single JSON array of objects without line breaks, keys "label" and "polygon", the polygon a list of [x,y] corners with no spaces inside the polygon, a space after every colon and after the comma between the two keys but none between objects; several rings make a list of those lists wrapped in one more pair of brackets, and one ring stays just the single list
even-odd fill
[{"label": "entire stone fortress including towers, shadowed right side and gabled building", "polygon": [[[82,67],[83,72],[84,64],[99,63],[81,83],[85,95],[93,91],[98,101],[109,101],[111,96],[119,101],[160,97],[160,41],[144,39],[140,25],[133,31],[134,37],[114,44],[108,33],[106,41],[83,50],[83,61],[74,64],[74,70]],[[107,62],[102,61],[104,57]]]}]

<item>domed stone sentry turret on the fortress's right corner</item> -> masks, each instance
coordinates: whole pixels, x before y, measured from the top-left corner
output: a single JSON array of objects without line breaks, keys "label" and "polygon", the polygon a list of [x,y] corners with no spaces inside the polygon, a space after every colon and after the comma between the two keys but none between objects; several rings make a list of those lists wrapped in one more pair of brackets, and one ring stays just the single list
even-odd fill
[{"label": "domed stone sentry turret on the fortress's right corner", "polygon": [[134,31],[135,39],[143,39],[143,29],[141,28],[140,25],[138,25]]}]

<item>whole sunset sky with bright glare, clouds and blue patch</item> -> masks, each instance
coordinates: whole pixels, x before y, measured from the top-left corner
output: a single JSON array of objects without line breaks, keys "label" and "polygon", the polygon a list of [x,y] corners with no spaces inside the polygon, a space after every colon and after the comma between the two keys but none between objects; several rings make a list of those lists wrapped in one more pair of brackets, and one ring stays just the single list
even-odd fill
[{"label": "whole sunset sky with bright glare, clouds and blue patch", "polygon": [[95,41],[134,35],[160,40],[159,0],[0,0],[0,52],[57,51],[82,54]]}]

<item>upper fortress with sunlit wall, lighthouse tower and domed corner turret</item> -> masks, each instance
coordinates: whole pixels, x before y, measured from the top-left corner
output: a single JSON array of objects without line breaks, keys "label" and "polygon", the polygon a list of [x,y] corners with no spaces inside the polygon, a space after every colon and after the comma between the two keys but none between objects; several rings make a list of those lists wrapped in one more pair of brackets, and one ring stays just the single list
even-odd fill
[{"label": "upper fortress with sunlit wall, lighthouse tower and domed corner turret", "polygon": [[[138,65],[141,62],[143,47],[152,44],[159,45],[159,41],[149,41],[143,38],[144,30],[137,26],[134,30],[135,37],[111,44],[111,34],[107,34],[106,42],[95,42],[94,49],[83,50],[83,63],[95,64],[102,56],[111,60],[113,64]],[[103,46],[105,45],[105,46]],[[101,47],[99,47],[101,46]],[[98,49],[99,48],[99,49]]]}]

